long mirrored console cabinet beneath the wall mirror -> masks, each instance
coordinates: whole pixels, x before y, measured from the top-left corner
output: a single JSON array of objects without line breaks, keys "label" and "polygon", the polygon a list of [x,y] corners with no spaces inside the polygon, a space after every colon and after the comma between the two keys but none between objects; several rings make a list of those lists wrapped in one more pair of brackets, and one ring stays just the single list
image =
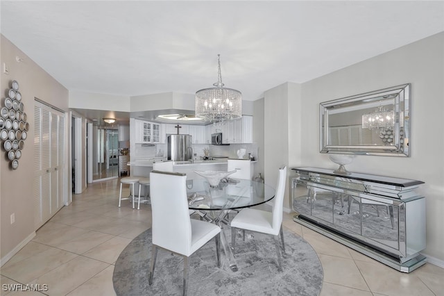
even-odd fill
[{"label": "long mirrored console cabinet beneath the wall mirror", "polygon": [[426,263],[422,181],[296,167],[293,220],[401,272]]}]

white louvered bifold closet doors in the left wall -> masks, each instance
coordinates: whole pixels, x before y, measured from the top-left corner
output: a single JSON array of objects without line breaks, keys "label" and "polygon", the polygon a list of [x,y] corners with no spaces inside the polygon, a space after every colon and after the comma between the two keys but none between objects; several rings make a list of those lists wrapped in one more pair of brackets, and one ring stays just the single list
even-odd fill
[{"label": "white louvered bifold closet doors in the left wall", "polygon": [[65,116],[36,101],[34,121],[34,206],[38,229],[63,205]]}]

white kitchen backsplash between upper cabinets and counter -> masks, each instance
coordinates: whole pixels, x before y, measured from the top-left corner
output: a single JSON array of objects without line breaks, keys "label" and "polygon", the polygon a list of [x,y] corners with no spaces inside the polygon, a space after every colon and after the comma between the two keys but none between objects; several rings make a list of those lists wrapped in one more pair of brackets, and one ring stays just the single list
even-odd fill
[{"label": "white kitchen backsplash between upper cabinets and counter", "polygon": [[[237,158],[237,150],[246,149],[244,158],[248,158],[248,154],[252,154],[257,159],[257,144],[230,144],[223,146],[216,145],[200,145],[195,144],[192,146],[194,156],[197,159],[205,156],[203,150],[205,148],[210,149],[210,156],[228,156],[228,158]],[[155,144],[153,146],[147,146],[143,144],[136,144],[135,151],[130,151],[131,160],[140,158],[160,158],[167,157],[168,154],[167,144]]]}]

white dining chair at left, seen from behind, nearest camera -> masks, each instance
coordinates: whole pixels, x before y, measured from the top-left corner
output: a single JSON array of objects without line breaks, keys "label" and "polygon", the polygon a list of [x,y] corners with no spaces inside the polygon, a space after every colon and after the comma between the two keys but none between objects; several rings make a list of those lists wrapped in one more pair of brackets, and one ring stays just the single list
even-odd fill
[{"label": "white dining chair at left, seen from behind, nearest camera", "polygon": [[152,171],[150,179],[153,247],[149,284],[153,283],[157,249],[165,249],[184,257],[183,295],[187,295],[189,256],[212,238],[216,240],[217,266],[221,266],[221,228],[189,217],[186,174]]}]

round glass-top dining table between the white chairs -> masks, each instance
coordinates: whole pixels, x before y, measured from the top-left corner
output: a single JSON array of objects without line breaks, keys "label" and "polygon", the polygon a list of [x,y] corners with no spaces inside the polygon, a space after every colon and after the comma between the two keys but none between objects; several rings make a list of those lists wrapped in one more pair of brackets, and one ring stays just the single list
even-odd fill
[{"label": "round glass-top dining table between the white chairs", "polygon": [[[216,187],[210,186],[205,179],[191,179],[187,180],[187,195],[190,210],[223,229],[230,227],[228,213],[270,201],[275,197],[275,189],[262,182],[244,179],[223,179]],[[225,231],[221,231],[221,243],[230,269],[236,272],[237,263]]]}]

